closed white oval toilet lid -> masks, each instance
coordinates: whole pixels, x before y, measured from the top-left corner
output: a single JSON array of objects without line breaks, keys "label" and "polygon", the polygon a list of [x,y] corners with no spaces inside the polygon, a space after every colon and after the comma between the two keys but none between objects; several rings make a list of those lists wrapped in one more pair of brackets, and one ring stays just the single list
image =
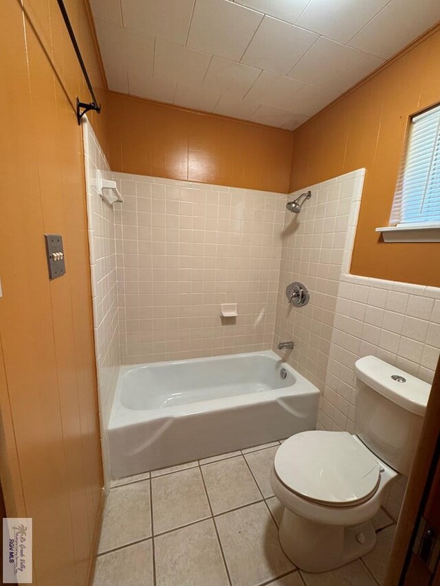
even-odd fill
[{"label": "closed white oval toilet lid", "polygon": [[297,433],[278,448],[274,468],[289,490],[330,506],[366,500],[380,481],[379,462],[347,431]]}]

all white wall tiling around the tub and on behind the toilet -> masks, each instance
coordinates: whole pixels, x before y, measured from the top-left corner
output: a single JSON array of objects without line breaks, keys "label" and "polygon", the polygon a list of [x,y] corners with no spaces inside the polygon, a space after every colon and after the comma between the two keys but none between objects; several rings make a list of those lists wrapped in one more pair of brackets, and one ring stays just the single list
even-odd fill
[{"label": "all white wall tiling around the tub and on behind the toilet", "polygon": [[[107,162],[97,142],[87,148],[104,465],[120,363],[276,350],[293,339],[295,349],[278,354],[319,387],[318,427],[336,431],[353,431],[358,357],[432,381],[440,289],[349,274],[364,170],[289,196],[113,173],[124,203],[109,207],[93,187]],[[300,214],[285,210],[309,189]],[[287,302],[294,280],[311,292],[304,308]],[[236,302],[239,316],[222,320],[222,302]],[[388,498],[394,517],[403,491],[396,483]]]}]

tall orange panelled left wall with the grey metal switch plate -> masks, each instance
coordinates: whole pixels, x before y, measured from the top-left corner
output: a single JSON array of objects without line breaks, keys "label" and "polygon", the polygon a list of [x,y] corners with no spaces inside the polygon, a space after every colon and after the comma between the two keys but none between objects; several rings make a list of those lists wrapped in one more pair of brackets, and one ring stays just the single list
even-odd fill
[{"label": "tall orange panelled left wall with the grey metal switch plate", "polygon": [[[66,2],[104,82],[82,0]],[[34,585],[87,583],[102,495],[83,144],[88,99],[54,0],[2,3],[0,21],[1,477],[8,515],[33,518]],[[91,117],[102,144],[104,118]],[[45,232],[67,275],[47,275]]]}]

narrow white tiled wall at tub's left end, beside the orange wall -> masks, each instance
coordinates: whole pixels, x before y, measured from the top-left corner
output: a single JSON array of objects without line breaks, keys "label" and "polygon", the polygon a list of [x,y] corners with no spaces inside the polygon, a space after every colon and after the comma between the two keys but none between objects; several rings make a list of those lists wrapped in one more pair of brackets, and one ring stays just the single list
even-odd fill
[{"label": "narrow white tiled wall at tub's left end, beside the orange wall", "polygon": [[118,295],[116,283],[115,210],[96,190],[98,170],[109,173],[109,164],[90,124],[83,118],[87,191],[87,216],[94,311],[94,337],[104,484],[109,488],[107,427],[120,366]]}]

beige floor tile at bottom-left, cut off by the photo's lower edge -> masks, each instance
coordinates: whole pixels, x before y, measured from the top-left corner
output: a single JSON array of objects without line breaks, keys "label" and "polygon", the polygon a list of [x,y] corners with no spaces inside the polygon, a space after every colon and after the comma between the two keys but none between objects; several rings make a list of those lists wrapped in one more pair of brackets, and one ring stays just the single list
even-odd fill
[{"label": "beige floor tile at bottom-left, cut off by the photo's lower edge", "polygon": [[153,586],[151,539],[98,556],[93,586]]}]

